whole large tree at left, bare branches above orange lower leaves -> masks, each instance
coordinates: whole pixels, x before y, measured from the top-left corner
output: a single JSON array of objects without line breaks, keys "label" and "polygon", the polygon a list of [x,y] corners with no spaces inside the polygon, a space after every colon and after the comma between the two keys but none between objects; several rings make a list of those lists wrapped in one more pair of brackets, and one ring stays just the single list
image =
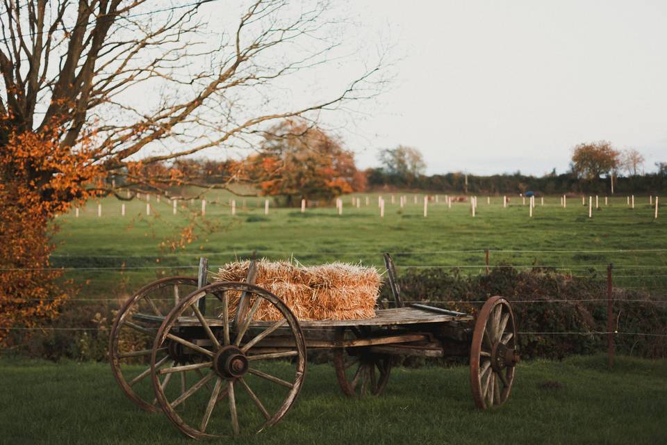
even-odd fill
[{"label": "whole large tree at left, bare branches above orange lower leaves", "polygon": [[[3,6],[0,327],[32,325],[56,310],[39,303],[63,296],[55,287],[58,273],[43,270],[52,250],[48,227],[73,203],[181,186],[206,191],[212,187],[206,175],[179,170],[174,160],[254,147],[272,122],[315,118],[377,95],[384,83],[379,55],[376,65],[359,63],[359,76],[338,90],[284,100],[283,79],[331,70],[337,65],[329,62],[342,56],[334,37],[344,35],[341,22],[331,19],[326,3],[233,2],[213,24],[211,2]],[[235,177],[226,173],[213,187],[227,188]]]}]

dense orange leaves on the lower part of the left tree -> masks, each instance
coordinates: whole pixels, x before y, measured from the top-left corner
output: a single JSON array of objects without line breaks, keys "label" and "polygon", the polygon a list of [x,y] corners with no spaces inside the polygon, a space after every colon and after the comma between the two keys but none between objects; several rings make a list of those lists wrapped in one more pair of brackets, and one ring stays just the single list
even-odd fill
[{"label": "dense orange leaves on the lower part of the left tree", "polygon": [[10,327],[58,315],[67,291],[62,271],[49,268],[49,221],[99,193],[92,150],[85,141],[63,147],[59,136],[58,129],[10,133],[0,147],[0,342]]}]

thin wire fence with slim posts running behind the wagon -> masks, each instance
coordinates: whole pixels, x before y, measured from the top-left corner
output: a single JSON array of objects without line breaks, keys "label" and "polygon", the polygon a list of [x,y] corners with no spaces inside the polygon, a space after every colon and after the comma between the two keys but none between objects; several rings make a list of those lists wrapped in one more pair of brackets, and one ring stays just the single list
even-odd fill
[{"label": "thin wire fence with slim posts running behind the wagon", "polygon": [[[492,264],[489,260],[490,254],[530,254],[530,255],[545,255],[552,256],[554,254],[570,256],[570,259],[563,258],[563,261],[558,262],[549,262],[548,264],[505,264],[500,262],[498,264]],[[81,272],[129,272],[129,271],[151,271],[156,273],[162,273],[163,275],[170,270],[174,271],[195,271],[198,266],[193,264],[165,264],[162,262],[163,259],[180,259],[184,257],[186,259],[192,257],[233,257],[234,259],[249,259],[255,257],[269,257],[270,255],[290,255],[290,257],[296,257],[295,252],[290,250],[230,250],[227,252],[213,252],[213,253],[184,253],[184,254],[158,254],[158,255],[147,255],[147,254],[134,254],[134,255],[114,255],[114,254],[102,254],[102,255],[73,255],[73,254],[58,254],[52,255],[53,259],[58,259],[60,261],[75,261],[80,259],[92,259],[94,261],[108,261],[108,260],[122,260],[123,264],[120,266],[63,266],[56,267],[57,270],[63,270],[65,272],[77,273]],[[345,254],[347,257],[365,255],[367,257],[381,258],[380,252],[327,252],[327,251],[299,251],[299,257],[308,257],[308,256],[320,256],[326,257],[337,254]],[[427,254],[483,254],[485,257],[484,263],[473,263],[467,264],[465,262],[459,261],[457,264],[400,264],[397,266],[398,270],[427,270],[427,269],[459,269],[467,270],[468,273],[472,275],[488,275],[489,270],[493,269],[516,269],[516,270],[529,270],[529,269],[552,269],[555,273],[561,273],[566,275],[571,279],[590,279],[595,278],[600,281],[600,296],[598,298],[550,298],[547,294],[541,296],[534,296],[533,299],[527,300],[522,298],[511,299],[512,304],[521,304],[521,305],[571,305],[575,303],[584,303],[584,304],[593,304],[593,305],[607,305],[608,309],[611,308],[611,305],[616,302],[628,303],[632,305],[650,305],[656,307],[659,311],[664,311],[667,309],[667,248],[652,248],[652,249],[607,249],[607,250],[516,250],[516,249],[470,249],[470,250],[409,250],[403,252],[393,252],[393,257],[395,259],[408,259],[410,257],[418,257],[420,255]],[[623,255],[632,255],[632,260],[636,263],[641,262],[642,264],[614,264],[612,267],[611,264],[603,263],[586,263],[579,264],[573,257],[577,254],[604,254],[606,255],[605,259],[609,259],[614,256],[623,256]],[[132,259],[160,259],[160,264],[156,265],[126,265],[126,262],[131,261]],[[188,260],[190,261],[190,260]],[[473,261],[472,259],[470,261]],[[501,260],[501,261],[504,261]],[[409,261],[406,261],[409,262]],[[297,261],[297,264],[299,262]],[[224,264],[213,264],[209,266],[210,270],[216,270],[217,268],[224,267]],[[381,266],[379,266],[381,267]],[[0,268],[0,271],[36,271],[36,270],[46,270],[45,268]],[[49,269],[51,270],[51,269]],[[587,270],[588,275],[585,273],[582,274],[582,271]],[[614,273],[611,275],[611,271],[618,271],[618,274]],[[652,273],[654,272],[654,273]],[[606,276],[608,274],[608,276]],[[607,286],[604,286],[604,280],[607,279]],[[145,283],[143,283],[145,284]],[[140,287],[140,286],[137,286]],[[630,291],[631,293],[627,295],[619,295],[618,291]],[[639,292],[639,293],[638,293]],[[643,293],[642,293],[643,292]],[[128,295],[128,292],[124,292],[124,295]],[[167,298],[154,298],[158,300],[167,300]],[[53,302],[57,300],[41,299],[41,298],[16,298],[15,302],[35,302],[40,301],[44,303]],[[72,297],[66,298],[65,302],[69,305],[106,305],[109,314],[108,317],[112,315],[112,311],[120,308],[124,303],[125,298],[119,296],[117,298],[100,296],[96,298],[94,296],[83,296],[83,297]],[[485,299],[473,299],[473,300],[462,300],[462,299],[446,299],[446,300],[408,300],[407,304],[412,303],[421,303],[428,305],[483,305],[486,302]],[[113,308],[112,305],[117,305]],[[65,310],[67,307],[65,306]],[[74,307],[72,310],[76,310]],[[611,309],[609,309],[611,311]],[[611,312],[609,312],[611,314]],[[607,330],[520,330],[518,334],[523,335],[532,335],[532,336],[607,336],[610,339],[613,339],[616,336],[634,336],[634,337],[667,337],[667,334],[662,332],[633,332],[630,330],[618,330],[613,328],[613,323],[611,318],[608,320],[609,325]],[[616,321],[618,323],[618,321]],[[35,326],[35,327],[23,327],[23,326],[14,326],[9,327],[9,331],[16,332],[99,332],[107,331],[108,327],[106,326],[91,326],[91,325],[72,325],[72,326]],[[610,344],[611,344],[610,340]],[[611,350],[611,349],[610,349]],[[610,352],[611,354],[611,352]]]}]

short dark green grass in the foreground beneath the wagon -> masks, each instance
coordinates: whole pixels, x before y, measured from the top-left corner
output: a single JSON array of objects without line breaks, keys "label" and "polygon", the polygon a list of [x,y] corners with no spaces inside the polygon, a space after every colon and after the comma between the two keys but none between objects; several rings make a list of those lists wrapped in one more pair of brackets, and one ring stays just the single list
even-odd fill
[{"label": "short dark green grass in the foreground beneath the wagon", "polygon": [[[126,399],[108,364],[1,359],[0,378],[0,443],[193,443]],[[321,364],[277,426],[214,443],[657,444],[666,412],[667,361],[521,363],[507,404],[486,412],[472,406],[466,366],[394,369],[383,396],[349,400]]]}]

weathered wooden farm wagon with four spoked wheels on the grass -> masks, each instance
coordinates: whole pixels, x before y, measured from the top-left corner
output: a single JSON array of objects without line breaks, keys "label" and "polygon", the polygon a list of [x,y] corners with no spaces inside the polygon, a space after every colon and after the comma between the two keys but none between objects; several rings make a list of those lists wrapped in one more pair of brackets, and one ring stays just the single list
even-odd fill
[{"label": "weathered wooden farm wagon with four spoked wheels on the grass", "polygon": [[[113,374],[136,405],[161,410],[196,439],[280,421],[302,388],[306,353],[318,350],[349,397],[382,394],[395,356],[459,356],[469,357],[476,407],[507,401],[519,359],[509,302],[489,298],[476,317],[406,307],[388,254],[385,262],[393,307],[361,320],[299,321],[279,296],[252,284],[254,266],[246,282],[206,284],[201,259],[198,278],[164,278],[125,302],[110,336]],[[261,305],[279,318],[253,320]]]}]

